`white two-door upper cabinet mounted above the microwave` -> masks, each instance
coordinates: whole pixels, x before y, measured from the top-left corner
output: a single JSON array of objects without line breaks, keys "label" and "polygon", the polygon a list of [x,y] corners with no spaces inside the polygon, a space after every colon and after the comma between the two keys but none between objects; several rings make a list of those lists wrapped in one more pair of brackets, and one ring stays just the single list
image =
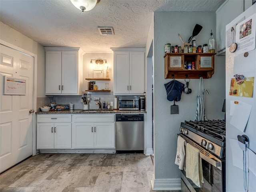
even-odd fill
[{"label": "white two-door upper cabinet mounted above the microwave", "polygon": [[112,48],[114,51],[114,94],[143,95],[144,48]]}]

